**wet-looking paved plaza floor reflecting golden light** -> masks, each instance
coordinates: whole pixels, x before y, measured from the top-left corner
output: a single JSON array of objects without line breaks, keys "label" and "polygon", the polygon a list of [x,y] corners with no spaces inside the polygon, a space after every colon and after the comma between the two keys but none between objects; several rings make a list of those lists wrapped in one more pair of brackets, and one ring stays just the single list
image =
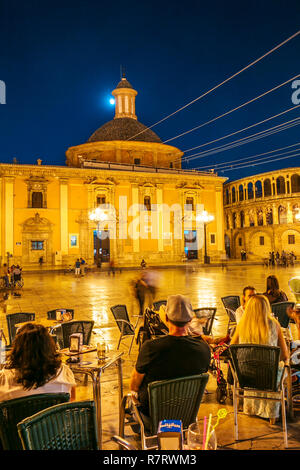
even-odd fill
[{"label": "wet-looking paved plaza floor reflecting golden light", "polygon": [[[294,300],[288,288],[288,280],[299,275],[300,267],[266,268],[261,266],[230,266],[228,268],[206,267],[177,269],[160,269],[159,289],[156,300],[166,299],[170,294],[180,293],[191,299],[194,308],[217,307],[217,316],[213,328],[214,335],[223,335],[226,332],[227,316],[221,303],[221,297],[229,294],[240,295],[246,285],[253,285],[257,292],[264,292],[266,277],[276,274],[280,287],[290,300]],[[110,307],[116,304],[126,304],[130,316],[138,314],[138,305],[132,293],[132,281],[138,276],[138,271],[116,272],[109,276],[107,272],[89,272],[86,276],[75,278],[74,274],[41,272],[40,274],[25,274],[25,285],[21,297],[9,297],[7,313],[34,312],[36,319],[46,317],[48,310],[56,308],[73,308],[75,319],[94,320],[95,335],[92,342],[96,343],[100,337],[105,338],[110,350],[116,350],[119,338],[118,329],[113,319]],[[6,329],[5,315],[1,312],[1,326]],[[294,327],[294,325],[292,325]],[[292,330],[296,338],[296,332]],[[129,377],[135,363],[137,346],[134,345],[132,353],[128,356],[127,344],[130,339],[122,342],[124,351],[124,388],[129,390]],[[226,367],[224,371],[226,372]],[[80,379],[80,377],[79,377]],[[112,434],[118,433],[118,395],[117,374],[112,368],[103,375],[103,428],[104,448],[116,449],[116,444],[110,441]],[[205,394],[199,410],[200,419],[208,413],[213,413],[215,419],[219,408],[228,411],[225,420],[218,426],[218,445],[224,449],[283,449],[281,421],[270,426],[267,420],[248,417],[239,414],[240,441],[234,442],[233,437],[233,407],[229,400],[220,405],[216,401],[216,377],[210,375],[208,393]],[[77,399],[92,398],[91,383],[87,386],[78,380]],[[293,422],[288,422],[289,446],[291,449],[300,449],[300,414],[295,415]],[[128,429],[128,437],[134,445],[138,446],[134,435]]]}]

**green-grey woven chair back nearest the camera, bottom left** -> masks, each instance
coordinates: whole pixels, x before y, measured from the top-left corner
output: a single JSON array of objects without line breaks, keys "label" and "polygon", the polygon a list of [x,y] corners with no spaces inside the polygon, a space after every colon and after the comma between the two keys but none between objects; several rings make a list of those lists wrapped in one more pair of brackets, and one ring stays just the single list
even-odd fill
[{"label": "green-grey woven chair back nearest the camera, bottom left", "polygon": [[51,406],[18,423],[24,450],[98,450],[93,401]]}]

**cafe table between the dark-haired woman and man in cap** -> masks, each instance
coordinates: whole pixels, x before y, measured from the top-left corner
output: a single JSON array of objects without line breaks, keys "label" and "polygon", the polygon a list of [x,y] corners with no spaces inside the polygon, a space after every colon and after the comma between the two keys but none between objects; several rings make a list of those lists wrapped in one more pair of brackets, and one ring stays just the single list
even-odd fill
[{"label": "cafe table between the dark-haired woman and man in cap", "polygon": [[[63,354],[63,359],[67,359],[67,355],[64,351],[68,349],[60,350]],[[96,406],[96,417],[97,417],[97,432],[98,432],[98,446],[102,449],[102,406],[101,406],[101,375],[109,367],[116,365],[118,368],[118,384],[119,384],[119,410],[123,398],[123,372],[122,372],[122,359],[123,352],[111,353],[101,361],[98,360],[97,352],[87,352],[79,354],[80,362],[71,363],[68,365],[74,373],[88,374],[92,378],[93,383],[93,398]],[[74,356],[74,354],[72,354]]]}]

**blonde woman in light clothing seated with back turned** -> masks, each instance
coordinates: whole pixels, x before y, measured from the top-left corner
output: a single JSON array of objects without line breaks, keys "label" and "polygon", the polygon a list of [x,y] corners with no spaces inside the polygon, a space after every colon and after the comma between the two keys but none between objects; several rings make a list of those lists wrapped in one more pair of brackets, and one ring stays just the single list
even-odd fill
[{"label": "blonde woman in light clothing seated with back turned", "polygon": [[[245,307],[245,312],[232,337],[231,344],[264,344],[280,348],[280,360],[287,362],[289,352],[283,337],[280,324],[271,315],[270,302],[264,295],[252,296]],[[283,364],[278,371],[278,383],[282,374]],[[252,393],[251,393],[252,394]],[[264,393],[253,396],[264,397]],[[274,424],[279,417],[280,403],[270,400],[244,399],[244,413],[270,419]]]}]

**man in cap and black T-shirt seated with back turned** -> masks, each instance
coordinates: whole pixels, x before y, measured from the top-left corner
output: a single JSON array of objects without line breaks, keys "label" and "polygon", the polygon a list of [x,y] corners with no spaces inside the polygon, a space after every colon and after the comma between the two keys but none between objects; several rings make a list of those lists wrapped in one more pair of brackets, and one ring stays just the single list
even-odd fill
[{"label": "man in cap and black T-shirt seated with back turned", "polygon": [[169,334],[147,340],[139,352],[132,372],[130,389],[149,416],[148,384],[207,372],[210,348],[200,337],[188,334],[188,325],[194,312],[187,297],[171,295],[166,305]]}]

